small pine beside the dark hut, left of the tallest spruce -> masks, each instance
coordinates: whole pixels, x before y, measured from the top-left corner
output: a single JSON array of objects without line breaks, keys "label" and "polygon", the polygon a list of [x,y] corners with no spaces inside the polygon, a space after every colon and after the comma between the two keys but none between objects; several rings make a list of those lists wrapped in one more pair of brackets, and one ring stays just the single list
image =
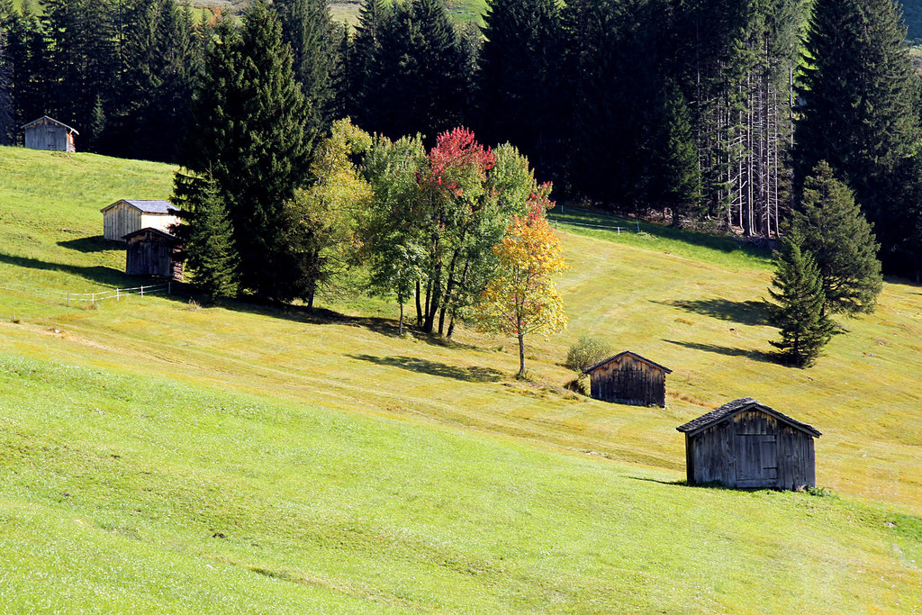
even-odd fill
[{"label": "small pine beside the dark hut, left of the tallest spruce", "polygon": [[237,293],[238,260],[231,238],[231,222],[221,201],[218,185],[210,177],[177,174],[183,185],[173,202],[183,210],[183,255],[192,270],[195,286],[211,301]]}]

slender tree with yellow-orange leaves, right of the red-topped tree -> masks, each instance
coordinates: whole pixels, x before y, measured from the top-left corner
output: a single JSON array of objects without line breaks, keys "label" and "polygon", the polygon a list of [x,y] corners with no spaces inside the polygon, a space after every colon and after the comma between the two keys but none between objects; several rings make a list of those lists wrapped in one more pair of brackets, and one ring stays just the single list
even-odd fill
[{"label": "slender tree with yellow-orange leaves, right of the red-topped tree", "polygon": [[561,242],[550,231],[544,207],[539,207],[543,203],[550,204],[546,195],[534,195],[528,215],[514,217],[502,242],[493,247],[499,266],[475,313],[480,331],[518,338],[519,378],[526,374],[526,335],[547,335],[567,325],[561,295],[551,280],[567,267]]}]

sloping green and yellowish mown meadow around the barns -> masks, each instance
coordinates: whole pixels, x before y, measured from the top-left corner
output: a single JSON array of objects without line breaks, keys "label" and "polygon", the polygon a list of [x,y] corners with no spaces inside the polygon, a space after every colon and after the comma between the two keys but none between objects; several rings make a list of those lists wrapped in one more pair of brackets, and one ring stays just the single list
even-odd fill
[{"label": "sloping green and yellowish mown meadow around the barns", "polygon": [[[0,286],[136,286],[99,209],[171,171],[0,148]],[[398,338],[382,300],[0,290],[0,612],[922,610],[922,289],[794,370],[766,254],[560,231],[571,325],[533,384],[510,340]],[[672,368],[667,408],[561,390],[589,332]],[[675,427],[739,396],[823,432],[833,496],[682,484]]]}]

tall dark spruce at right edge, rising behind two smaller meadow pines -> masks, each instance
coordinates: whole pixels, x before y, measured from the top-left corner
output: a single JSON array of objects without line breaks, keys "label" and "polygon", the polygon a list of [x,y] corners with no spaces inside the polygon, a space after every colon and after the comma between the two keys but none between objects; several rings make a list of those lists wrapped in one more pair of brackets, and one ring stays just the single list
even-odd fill
[{"label": "tall dark spruce at right edge, rising behind two smaller meadow pines", "polygon": [[885,265],[905,265],[915,228],[904,212],[919,145],[918,79],[892,0],[817,0],[805,43],[796,162],[801,179],[827,160],[855,190]]}]

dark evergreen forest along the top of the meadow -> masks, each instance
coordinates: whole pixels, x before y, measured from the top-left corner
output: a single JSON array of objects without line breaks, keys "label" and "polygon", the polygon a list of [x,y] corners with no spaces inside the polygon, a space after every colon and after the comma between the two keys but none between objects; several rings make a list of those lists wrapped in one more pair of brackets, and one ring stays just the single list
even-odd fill
[{"label": "dark evergreen forest along the top of the meadow", "polygon": [[[922,105],[892,0],[493,0],[482,28],[455,25],[443,0],[365,0],[354,29],[325,0],[269,10],[307,156],[338,117],[427,146],[465,125],[519,148],[558,197],[767,238],[826,160],[884,266],[918,275]],[[196,23],[176,0],[4,0],[0,139],[48,114],[79,130],[80,150],[200,158],[182,143],[204,129],[208,92],[247,74],[204,62],[240,44],[236,23]]]}]

